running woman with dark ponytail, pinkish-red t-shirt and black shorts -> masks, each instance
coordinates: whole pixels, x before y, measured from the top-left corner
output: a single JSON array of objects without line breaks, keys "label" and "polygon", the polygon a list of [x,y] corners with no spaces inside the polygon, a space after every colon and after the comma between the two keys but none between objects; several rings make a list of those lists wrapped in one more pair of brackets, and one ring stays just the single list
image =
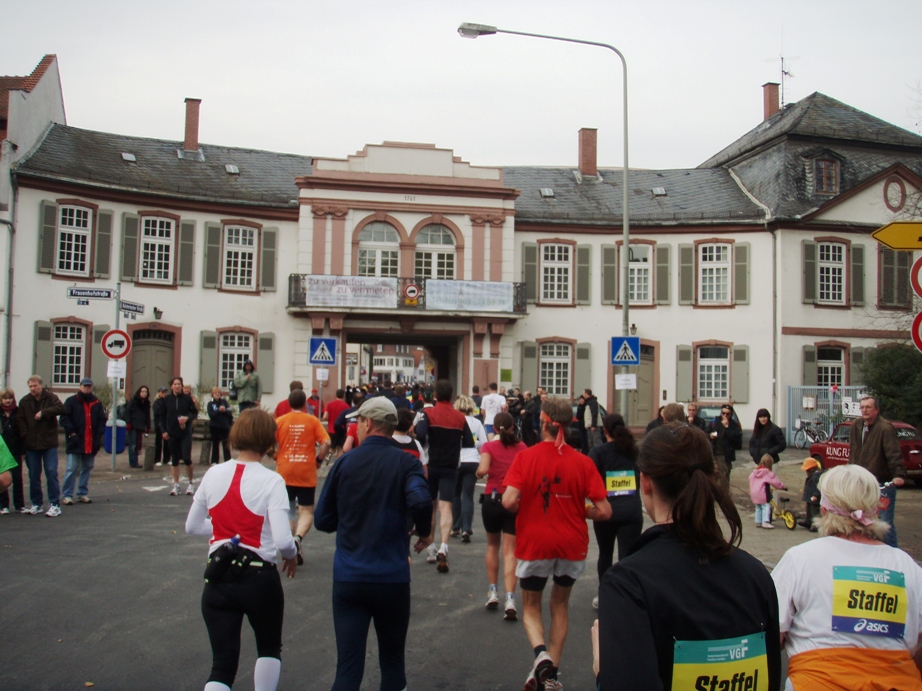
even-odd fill
[{"label": "running woman with dark ponytail, pinkish-red t-shirt and black shorts", "polygon": [[509,413],[497,413],[493,419],[493,441],[480,449],[480,465],[477,477],[489,476],[487,486],[480,495],[483,529],[487,534],[487,609],[499,607],[496,584],[499,580],[499,548],[503,548],[503,585],[506,588],[504,607],[507,621],[515,621],[515,514],[503,507],[503,492],[506,490],[506,471],[519,451],[528,447],[515,434],[515,420]]}]

